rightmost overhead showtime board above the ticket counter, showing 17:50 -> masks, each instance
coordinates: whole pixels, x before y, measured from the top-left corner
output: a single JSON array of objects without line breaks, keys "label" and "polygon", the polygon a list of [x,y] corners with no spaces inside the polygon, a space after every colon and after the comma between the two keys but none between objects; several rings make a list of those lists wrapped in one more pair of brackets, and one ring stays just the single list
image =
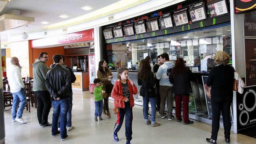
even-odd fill
[{"label": "rightmost overhead showtime board above the ticket counter, showing 17:50", "polygon": [[207,4],[211,18],[225,15],[228,13],[227,4],[225,0],[218,0]]}]

